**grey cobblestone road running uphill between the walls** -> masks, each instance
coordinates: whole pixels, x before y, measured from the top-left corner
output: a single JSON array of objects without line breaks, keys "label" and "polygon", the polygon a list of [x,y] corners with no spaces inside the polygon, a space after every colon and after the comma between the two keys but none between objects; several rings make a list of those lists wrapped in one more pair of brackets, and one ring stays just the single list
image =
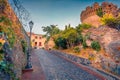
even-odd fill
[{"label": "grey cobblestone road running uphill between the walls", "polygon": [[73,63],[45,50],[35,50],[46,80],[102,80]]}]

